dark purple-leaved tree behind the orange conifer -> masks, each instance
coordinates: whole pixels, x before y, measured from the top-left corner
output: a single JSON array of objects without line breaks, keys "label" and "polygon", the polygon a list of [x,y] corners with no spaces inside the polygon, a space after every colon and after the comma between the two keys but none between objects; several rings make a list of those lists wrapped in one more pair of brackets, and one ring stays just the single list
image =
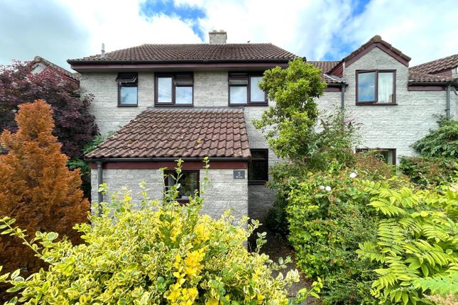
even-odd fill
[{"label": "dark purple-leaved tree behind the orange conifer", "polygon": [[32,74],[31,68],[27,62],[0,66],[0,131],[16,131],[14,113],[19,104],[44,99],[53,109],[53,133],[62,143],[62,153],[82,157],[82,148],[98,133],[89,113],[92,96],[80,99],[79,84],[58,70]]}]

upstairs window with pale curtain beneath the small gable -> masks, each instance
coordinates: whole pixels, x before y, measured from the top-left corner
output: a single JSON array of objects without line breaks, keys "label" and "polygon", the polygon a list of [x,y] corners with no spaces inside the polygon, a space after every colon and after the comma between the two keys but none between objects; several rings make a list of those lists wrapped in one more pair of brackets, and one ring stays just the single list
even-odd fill
[{"label": "upstairs window with pale curtain beneath the small gable", "polygon": [[396,104],[396,71],[356,71],[356,104]]}]

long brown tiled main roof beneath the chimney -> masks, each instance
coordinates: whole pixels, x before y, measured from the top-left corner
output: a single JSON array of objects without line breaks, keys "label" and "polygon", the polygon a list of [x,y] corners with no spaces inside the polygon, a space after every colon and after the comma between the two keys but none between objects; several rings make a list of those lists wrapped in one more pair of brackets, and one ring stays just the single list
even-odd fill
[{"label": "long brown tiled main roof beneath the chimney", "polygon": [[107,62],[227,62],[279,61],[288,62],[296,55],[271,43],[229,43],[223,45],[179,44],[138,45],[107,52],[104,57],[93,55],[67,60],[70,64]]}]

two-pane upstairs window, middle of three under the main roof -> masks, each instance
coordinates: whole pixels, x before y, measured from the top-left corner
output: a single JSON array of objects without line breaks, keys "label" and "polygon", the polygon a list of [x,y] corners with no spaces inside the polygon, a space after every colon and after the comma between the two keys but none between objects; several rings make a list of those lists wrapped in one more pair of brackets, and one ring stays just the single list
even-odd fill
[{"label": "two-pane upstairs window, middle of three under the main roof", "polygon": [[156,106],[192,106],[192,73],[157,73],[155,101]]}]

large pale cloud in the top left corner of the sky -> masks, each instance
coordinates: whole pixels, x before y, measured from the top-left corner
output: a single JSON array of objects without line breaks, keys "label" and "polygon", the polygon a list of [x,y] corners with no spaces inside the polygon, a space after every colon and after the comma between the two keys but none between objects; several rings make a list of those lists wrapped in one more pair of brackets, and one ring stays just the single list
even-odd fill
[{"label": "large pale cloud in the top left corner of the sky", "polygon": [[0,64],[40,55],[65,66],[64,54],[89,51],[90,32],[58,1],[1,1]]}]

